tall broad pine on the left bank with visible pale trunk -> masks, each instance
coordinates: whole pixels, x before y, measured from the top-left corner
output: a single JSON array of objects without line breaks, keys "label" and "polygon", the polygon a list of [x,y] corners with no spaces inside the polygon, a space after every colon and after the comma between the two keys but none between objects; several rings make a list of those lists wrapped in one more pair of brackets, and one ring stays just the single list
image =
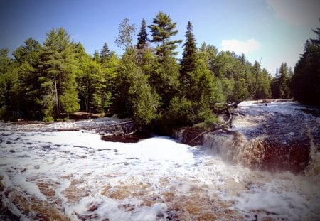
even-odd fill
[{"label": "tall broad pine on the left bank with visible pale trunk", "polygon": [[77,111],[78,93],[75,90],[75,44],[63,28],[47,33],[41,53],[43,76],[39,77],[43,90],[45,119],[59,117],[61,112]]}]

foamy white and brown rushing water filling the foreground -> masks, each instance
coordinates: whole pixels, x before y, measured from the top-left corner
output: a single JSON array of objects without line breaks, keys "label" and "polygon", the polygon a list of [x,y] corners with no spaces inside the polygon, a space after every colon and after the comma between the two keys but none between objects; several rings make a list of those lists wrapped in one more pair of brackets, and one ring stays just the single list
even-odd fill
[{"label": "foamy white and brown rushing water filling the foreground", "polygon": [[[261,111],[248,103],[240,109],[248,114],[250,105]],[[235,127],[245,134],[265,116],[257,112],[252,125],[240,118]],[[168,137],[122,144],[90,131],[4,127],[0,153],[0,220],[320,219],[317,151],[305,173],[271,173]]]}]

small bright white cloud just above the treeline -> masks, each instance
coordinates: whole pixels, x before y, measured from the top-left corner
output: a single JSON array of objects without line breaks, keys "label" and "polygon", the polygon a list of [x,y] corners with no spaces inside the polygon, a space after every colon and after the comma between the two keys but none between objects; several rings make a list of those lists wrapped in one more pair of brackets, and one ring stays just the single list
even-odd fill
[{"label": "small bright white cloud just above the treeline", "polygon": [[248,54],[255,50],[260,49],[261,45],[255,39],[248,39],[247,41],[233,40],[223,40],[221,42],[221,50],[234,51],[236,54]]}]

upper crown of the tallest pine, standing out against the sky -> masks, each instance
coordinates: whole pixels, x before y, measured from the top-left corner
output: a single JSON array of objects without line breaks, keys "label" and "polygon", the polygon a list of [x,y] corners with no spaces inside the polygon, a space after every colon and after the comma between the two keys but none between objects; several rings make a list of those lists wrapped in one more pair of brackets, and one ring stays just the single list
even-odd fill
[{"label": "upper crown of the tallest pine, standing out against the sky", "polygon": [[159,11],[156,14],[156,18],[153,20],[153,24],[148,26],[151,31],[151,42],[159,43],[156,46],[156,54],[161,58],[167,55],[176,55],[174,52],[176,49],[176,43],[181,43],[181,40],[170,40],[171,36],[175,36],[178,33],[176,30],[176,22],[172,23],[169,15]]}]

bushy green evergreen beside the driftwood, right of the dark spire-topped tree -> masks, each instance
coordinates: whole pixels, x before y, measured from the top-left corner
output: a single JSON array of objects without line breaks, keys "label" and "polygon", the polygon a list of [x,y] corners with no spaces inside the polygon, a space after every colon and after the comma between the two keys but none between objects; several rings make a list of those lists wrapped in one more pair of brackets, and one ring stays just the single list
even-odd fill
[{"label": "bushy green evergreen beside the driftwood, right of the dark spire-topped tree", "polygon": [[210,126],[215,122],[211,108],[216,102],[214,76],[206,65],[204,53],[196,55],[195,67],[188,72],[188,90],[170,100],[164,121],[170,126],[186,126],[204,122]]}]

